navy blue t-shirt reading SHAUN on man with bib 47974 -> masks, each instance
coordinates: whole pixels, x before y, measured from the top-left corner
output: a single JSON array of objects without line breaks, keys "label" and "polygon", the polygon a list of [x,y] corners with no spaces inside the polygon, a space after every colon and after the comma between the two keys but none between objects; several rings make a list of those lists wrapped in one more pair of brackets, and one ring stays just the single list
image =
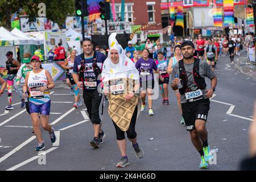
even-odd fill
[{"label": "navy blue t-shirt reading SHAUN on man with bib 47974", "polygon": [[[107,57],[101,53],[97,52],[97,65],[102,70],[102,65]],[[79,69],[81,67],[82,57],[78,55],[75,57],[73,73],[79,73]],[[83,85],[84,90],[96,90],[98,84],[100,84],[100,80],[97,79],[93,68],[93,57],[85,58],[85,71],[84,71],[84,78],[83,78]]]}]

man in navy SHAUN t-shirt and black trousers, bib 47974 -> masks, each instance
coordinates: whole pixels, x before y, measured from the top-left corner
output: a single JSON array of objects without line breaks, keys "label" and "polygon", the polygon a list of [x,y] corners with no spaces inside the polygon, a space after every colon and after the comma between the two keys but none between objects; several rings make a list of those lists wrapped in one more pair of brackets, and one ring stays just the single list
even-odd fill
[{"label": "man in navy SHAUN t-shirt and black trousers, bib 47974", "polygon": [[103,143],[105,137],[105,133],[101,129],[104,98],[97,90],[101,82],[98,76],[101,74],[102,64],[106,56],[101,52],[93,51],[93,44],[90,39],[82,41],[82,49],[84,52],[75,58],[72,76],[77,87],[81,88],[82,86],[82,97],[84,97],[90,121],[93,123],[94,138],[90,145],[98,148],[98,144]]}]

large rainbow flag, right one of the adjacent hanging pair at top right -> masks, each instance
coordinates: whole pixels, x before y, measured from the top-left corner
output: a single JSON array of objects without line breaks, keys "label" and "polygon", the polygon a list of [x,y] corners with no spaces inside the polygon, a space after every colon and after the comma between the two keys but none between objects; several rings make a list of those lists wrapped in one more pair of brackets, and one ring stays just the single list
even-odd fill
[{"label": "large rainbow flag, right one of the adjacent hanging pair at top right", "polygon": [[223,0],[224,27],[234,24],[234,0]]}]

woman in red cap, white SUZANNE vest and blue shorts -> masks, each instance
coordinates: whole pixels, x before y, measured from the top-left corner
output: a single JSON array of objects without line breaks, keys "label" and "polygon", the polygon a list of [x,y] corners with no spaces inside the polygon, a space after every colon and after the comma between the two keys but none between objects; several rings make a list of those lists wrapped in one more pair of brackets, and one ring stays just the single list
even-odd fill
[{"label": "woman in red cap, white SUZANNE vest and blue shorts", "polygon": [[33,124],[33,130],[38,139],[38,146],[35,150],[44,149],[44,140],[39,125],[39,113],[41,126],[49,132],[51,142],[56,140],[54,129],[49,125],[49,113],[51,108],[51,98],[49,97],[49,89],[53,89],[55,84],[51,74],[42,68],[39,56],[31,57],[32,71],[28,72],[23,85],[23,97],[26,99],[29,90],[29,106],[30,115]]}]

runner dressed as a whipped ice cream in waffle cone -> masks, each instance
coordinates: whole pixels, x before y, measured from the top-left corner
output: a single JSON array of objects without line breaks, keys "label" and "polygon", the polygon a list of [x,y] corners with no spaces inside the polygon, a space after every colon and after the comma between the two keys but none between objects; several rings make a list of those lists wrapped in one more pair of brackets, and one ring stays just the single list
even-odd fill
[{"label": "runner dressed as a whipped ice cream in waffle cone", "polygon": [[[109,98],[109,115],[115,127],[117,144],[121,159],[117,167],[128,163],[126,139],[130,140],[137,158],[143,158],[143,150],[137,142],[135,124],[139,115],[139,72],[133,61],[126,57],[123,48],[118,44],[113,33],[109,36],[109,56],[102,69],[104,94]],[[120,104],[121,103],[121,104]],[[119,113],[119,114],[118,114]]]}]

